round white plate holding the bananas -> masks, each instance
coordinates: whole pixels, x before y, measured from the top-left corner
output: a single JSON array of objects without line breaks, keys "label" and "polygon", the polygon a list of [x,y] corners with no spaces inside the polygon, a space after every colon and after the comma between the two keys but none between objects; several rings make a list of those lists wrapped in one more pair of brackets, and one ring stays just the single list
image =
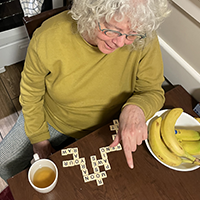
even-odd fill
[{"label": "round white plate holding the bananas", "polygon": [[[164,118],[164,116],[166,115],[166,113],[168,111],[169,111],[169,109],[160,110],[151,119],[149,119],[146,122],[146,124],[148,126],[148,129],[149,129],[150,124],[152,123],[152,121],[153,121],[153,119],[155,117],[162,116]],[[178,118],[178,120],[176,121],[175,128],[193,129],[193,130],[196,130],[196,131],[200,132],[200,123],[196,119],[194,119],[192,116],[190,116],[187,113],[183,112],[181,114],[181,116]],[[154,156],[154,158],[156,160],[158,160],[160,163],[162,163],[164,166],[166,166],[166,167],[168,167],[170,169],[173,169],[173,170],[176,170],[176,171],[193,171],[193,170],[198,169],[200,167],[198,165],[194,165],[194,164],[190,164],[190,163],[182,163],[181,165],[176,166],[176,167],[169,166],[169,165],[163,163],[161,160],[159,160],[156,157],[156,155],[151,150],[151,147],[149,145],[148,139],[145,140],[145,143],[146,143],[146,146],[147,146],[148,150]],[[200,158],[200,156],[196,156],[196,157]]]}]

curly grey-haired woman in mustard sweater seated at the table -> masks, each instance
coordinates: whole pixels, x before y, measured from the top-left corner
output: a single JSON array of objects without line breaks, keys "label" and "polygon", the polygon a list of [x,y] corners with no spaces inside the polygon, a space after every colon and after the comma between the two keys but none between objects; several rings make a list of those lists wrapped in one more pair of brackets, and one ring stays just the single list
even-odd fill
[{"label": "curly grey-haired woman in mustard sweater seated at the table", "polygon": [[48,157],[68,136],[81,138],[116,117],[111,146],[122,141],[133,168],[146,120],[164,102],[155,30],[168,14],[167,0],[74,0],[44,22],[22,72],[23,115],[0,144],[0,175],[6,180],[33,153]]}]

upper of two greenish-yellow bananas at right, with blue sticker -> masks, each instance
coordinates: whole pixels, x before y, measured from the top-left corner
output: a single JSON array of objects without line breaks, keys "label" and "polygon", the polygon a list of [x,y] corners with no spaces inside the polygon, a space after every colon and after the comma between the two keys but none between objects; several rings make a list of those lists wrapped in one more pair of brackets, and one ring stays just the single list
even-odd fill
[{"label": "upper of two greenish-yellow bananas at right, with blue sticker", "polygon": [[195,130],[175,129],[175,135],[179,140],[199,140],[200,133]]}]

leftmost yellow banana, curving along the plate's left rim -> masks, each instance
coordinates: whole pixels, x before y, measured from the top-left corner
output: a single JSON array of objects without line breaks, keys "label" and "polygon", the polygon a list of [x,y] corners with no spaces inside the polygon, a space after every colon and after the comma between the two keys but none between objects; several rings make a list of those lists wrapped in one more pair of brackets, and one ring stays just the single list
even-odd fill
[{"label": "leftmost yellow banana, curving along the plate's left rim", "polygon": [[179,166],[182,163],[182,159],[172,153],[163,143],[160,137],[160,127],[162,118],[155,119],[149,129],[149,144],[156,155],[156,157],[170,166]]}]

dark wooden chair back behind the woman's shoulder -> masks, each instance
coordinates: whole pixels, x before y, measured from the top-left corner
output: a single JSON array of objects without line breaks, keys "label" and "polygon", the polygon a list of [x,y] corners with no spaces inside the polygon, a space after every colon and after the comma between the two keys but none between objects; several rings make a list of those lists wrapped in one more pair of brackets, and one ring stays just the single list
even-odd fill
[{"label": "dark wooden chair back behind the woman's shoulder", "polygon": [[63,12],[64,10],[69,10],[71,5],[72,3],[69,1],[68,4],[64,7],[44,11],[32,17],[23,17],[23,23],[26,27],[29,38],[32,38],[33,32],[41,26],[42,22],[60,12]]}]

